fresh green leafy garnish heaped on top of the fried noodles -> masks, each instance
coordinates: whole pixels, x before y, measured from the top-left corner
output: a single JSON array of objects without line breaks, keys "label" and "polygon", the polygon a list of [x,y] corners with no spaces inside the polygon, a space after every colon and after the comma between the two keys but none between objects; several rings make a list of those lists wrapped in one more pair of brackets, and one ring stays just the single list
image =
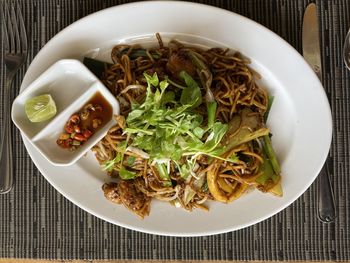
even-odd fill
[{"label": "fresh green leafy garnish heaped on top of the fried noodles", "polygon": [[[155,166],[165,186],[171,186],[169,163],[172,161],[184,179],[194,174],[196,159],[200,155],[237,162],[235,158],[223,159],[224,148],[220,141],[227,132],[228,125],[215,122],[216,102],[208,105],[208,123],[203,124],[203,116],[196,113],[202,103],[202,93],[196,81],[185,71],[180,77],[186,83],[184,89],[168,90],[167,79],[159,80],[157,73],[144,73],[147,81],[146,98],[143,103],[132,105],[123,129],[130,137],[129,146],[146,152],[149,162]],[[176,92],[178,94],[176,95]],[[175,98],[180,97],[180,101]],[[205,141],[203,141],[205,138]],[[106,163],[111,167],[122,161],[127,143],[119,144],[120,157]],[[126,164],[132,167],[135,159],[128,157]],[[135,178],[135,172],[120,164],[122,179]]]}]

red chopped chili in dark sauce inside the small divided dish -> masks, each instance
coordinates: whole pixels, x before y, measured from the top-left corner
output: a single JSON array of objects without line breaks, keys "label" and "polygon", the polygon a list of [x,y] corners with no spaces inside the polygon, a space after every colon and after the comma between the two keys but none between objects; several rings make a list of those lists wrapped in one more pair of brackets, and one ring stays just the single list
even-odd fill
[{"label": "red chopped chili in dark sauce inside the small divided dish", "polygon": [[57,144],[65,149],[75,150],[83,145],[94,133],[112,118],[112,106],[97,92],[64,126],[64,132]]}]

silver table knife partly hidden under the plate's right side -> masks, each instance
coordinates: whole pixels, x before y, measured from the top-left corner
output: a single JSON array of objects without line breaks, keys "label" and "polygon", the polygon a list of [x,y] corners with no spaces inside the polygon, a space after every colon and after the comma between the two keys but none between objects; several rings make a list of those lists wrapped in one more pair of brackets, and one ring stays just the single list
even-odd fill
[{"label": "silver table knife partly hidden under the plate's right side", "polygon": [[[322,82],[322,63],[320,52],[320,36],[317,19],[317,9],[314,3],[309,4],[303,19],[303,56]],[[318,178],[318,218],[324,223],[333,222],[336,209],[332,185],[329,180],[328,159]]]}]

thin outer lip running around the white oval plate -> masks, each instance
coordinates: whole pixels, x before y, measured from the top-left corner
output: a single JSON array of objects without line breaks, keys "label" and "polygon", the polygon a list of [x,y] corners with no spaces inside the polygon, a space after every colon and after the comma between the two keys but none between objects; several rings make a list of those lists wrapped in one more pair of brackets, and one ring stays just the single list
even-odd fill
[{"label": "thin outer lip running around the white oval plate", "polygon": [[[219,8],[219,7],[216,7],[216,6],[210,6],[210,5],[206,5],[206,4],[200,4],[200,3],[194,3],[194,2],[182,2],[182,1],[166,1],[166,2],[162,2],[162,1],[147,1],[147,2],[134,2],[134,3],[126,3],[126,4],[122,4],[122,5],[117,5],[117,6],[113,6],[113,7],[109,7],[109,8],[106,8],[106,9],[102,9],[100,11],[97,11],[97,12],[94,12],[94,13],[91,13],[85,17],[82,17],[78,20],[76,20],[75,22],[73,22],[72,24],[68,25],[67,27],[63,28],[62,30],[60,30],[53,38],[51,38],[40,50],[39,52],[36,54],[36,56],[34,57],[34,59],[31,61],[31,64],[29,65],[27,71],[26,71],[26,74],[23,78],[23,82],[21,84],[21,87],[20,87],[20,92],[22,92],[26,87],[25,86],[28,86],[28,84],[26,82],[28,82],[28,79],[30,79],[30,76],[28,74],[28,71],[29,69],[32,69],[33,65],[35,65],[37,63],[37,60],[40,58],[40,54],[42,53],[42,50],[45,50],[47,48],[50,47],[50,45],[52,43],[55,42],[55,40],[57,38],[60,38],[60,36],[62,34],[65,34],[66,31],[68,31],[71,27],[74,27],[76,24],[78,23],[84,23],[84,20],[88,20],[88,19],[92,19],[94,16],[98,17],[100,15],[103,15],[104,12],[109,12],[110,10],[112,9],[119,9],[119,8],[122,8],[122,7],[125,7],[125,6],[140,6],[140,5],[163,5],[163,6],[168,6],[168,5],[183,5],[183,6],[196,6],[198,8],[207,8],[207,9],[213,9],[213,10],[217,10],[217,11],[220,11],[220,12],[225,12],[231,16],[236,16],[238,17],[240,20],[243,20],[244,22],[246,23],[251,23],[253,24],[255,27],[258,27],[260,28],[261,30],[264,31],[264,33],[266,34],[269,34],[270,36],[273,36],[275,39],[278,40],[278,42],[280,44],[283,44],[284,46],[287,47],[288,51],[289,52],[293,52],[293,56],[297,56],[299,57],[299,60],[303,59],[303,57],[301,56],[301,54],[291,45],[289,44],[286,40],[284,40],[281,36],[279,36],[278,34],[276,34],[275,32],[273,32],[272,30],[270,30],[269,28],[259,24],[258,22],[250,19],[250,18],[247,18],[243,15],[240,15],[238,13],[235,13],[233,11],[229,11],[229,10],[226,10],[226,9],[222,9],[222,8]],[[305,61],[304,61],[305,62]],[[306,62],[305,62],[306,63]],[[331,113],[331,109],[330,109],[330,105],[329,105],[329,101],[327,99],[327,95],[326,95],[326,92],[325,90],[323,89],[323,86],[322,86],[322,83],[319,81],[319,79],[317,78],[317,76],[315,75],[315,73],[312,71],[311,68],[309,68],[310,71],[308,73],[309,74],[313,74],[314,77],[315,77],[315,82],[317,81],[318,82],[318,86],[320,86],[320,88],[322,88],[322,92],[323,92],[323,96],[324,98],[327,100],[327,105],[328,105],[328,113],[329,113],[329,116],[326,116],[327,119],[329,120],[329,124],[330,124],[330,130],[328,131],[328,138],[326,138],[327,141],[329,141],[328,143],[328,151],[327,153],[323,153],[322,154],[322,159],[323,159],[323,164],[326,160],[326,157],[328,156],[328,152],[329,152],[329,149],[330,149],[330,146],[331,146],[331,142],[332,142],[332,133],[333,133],[333,126],[332,126],[332,113]],[[272,216],[275,216],[276,214],[280,213],[282,210],[286,209],[288,206],[290,206],[292,203],[294,203],[299,197],[301,197],[304,192],[310,187],[310,185],[315,181],[316,177],[318,176],[318,173],[320,172],[322,166],[320,167],[318,173],[315,173],[315,175],[310,178],[310,180],[308,181],[307,184],[304,185],[304,188],[303,189],[300,189],[298,191],[298,194],[295,195],[293,198],[290,198],[289,201],[283,205],[283,206],[280,206],[278,209],[275,209],[272,213],[267,213],[265,214],[264,216],[260,216],[259,218],[255,219],[255,220],[247,220],[247,223],[245,224],[240,224],[239,226],[237,227],[231,227],[231,228],[222,228],[221,230],[209,230],[209,231],[206,231],[205,233],[204,232],[201,232],[201,233],[198,233],[198,232],[193,232],[193,233],[183,233],[183,232],[164,232],[164,231],[155,231],[155,230],[147,230],[145,228],[142,228],[142,227],[137,227],[137,226],[130,226],[130,225],[127,225],[127,224],[124,224],[123,222],[120,222],[118,220],[116,220],[118,222],[118,224],[116,222],[113,222],[111,221],[108,217],[105,217],[104,215],[101,215],[99,213],[95,213],[92,209],[90,209],[89,207],[86,207],[85,205],[81,204],[79,201],[75,200],[74,198],[71,198],[71,196],[69,196],[69,194],[65,193],[65,191],[60,187],[58,186],[53,180],[51,180],[47,175],[46,173],[44,172],[44,170],[42,169],[42,167],[40,165],[38,165],[37,163],[37,160],[36,159],[33,159],[32,157],[32,154],[33,154],[33,151],[32,149],[30,149],[30,144],[29,142],[27,141],[27,139],[21,134],[22,136],[22,139],[23,139],[23,142],[24,142],[24,145],[26,147],[26,150],[28,151],[29,153],[29,156],[32,160],[32,162],[35,164],[35,166],[37,167],[37,169],[40,171],[40,173],[44,176],[44,178],[55,188],[55,190],[57,190],[61,195],[63,195],[66,199],[68,199],[70,202],[72,202],[74,205],[80,207],[81,209],[87,211],[88,213],[104,220],[104,221],[107,221],[109,223],[112,223],[112,224],[115,224],[115,225],[118,225],[118,226],[121,226],[121,227],[124,227],[124,228],[127,228],[127,229],[131,229],[131,230],[136,230],[136,231],[140,231],[140,232],[143,232],[143,233],[148,233],[148,234],[155,234],[155,235],[162,235],[162,236],[179,236],[179,237],[195,237],[195,236],[208,236],[208,235],[214,235],[214,234],[222,234],[222,233],[227,233],[227,232],[230,232],[230,231],[236,231],[236,230],[239,230],[239,229],[243,229],[243,228],[246,228],[248,226],[252,226],[256,223],[259,223],[259,222],[262,222]],[[28,149],[29,147],[29,149]]]}]

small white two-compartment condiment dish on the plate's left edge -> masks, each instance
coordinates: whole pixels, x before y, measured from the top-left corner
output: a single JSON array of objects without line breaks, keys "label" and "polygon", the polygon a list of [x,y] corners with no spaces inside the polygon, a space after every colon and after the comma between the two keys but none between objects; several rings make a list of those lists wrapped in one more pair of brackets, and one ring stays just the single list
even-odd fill
[{"label": "small white two-compartment condiment dish on the plate's left edge", "polygon": [[[112,118],[84,144],[75,150],[63,149],[57,139],[64,132],[68,119],[81,110],[96,93],[110,104]],[[57,113],[47,121],[31,122],[25,113],[25,102],[33,97],[50,94],[55,101]],[[119,103],[109,90],[80,61],[63,59],[53,64],[21,94],[12,104],[12,120],[22,134],[54,165],[75,163],[101,140],[116,122],[113,115],[119,114]]]}]

